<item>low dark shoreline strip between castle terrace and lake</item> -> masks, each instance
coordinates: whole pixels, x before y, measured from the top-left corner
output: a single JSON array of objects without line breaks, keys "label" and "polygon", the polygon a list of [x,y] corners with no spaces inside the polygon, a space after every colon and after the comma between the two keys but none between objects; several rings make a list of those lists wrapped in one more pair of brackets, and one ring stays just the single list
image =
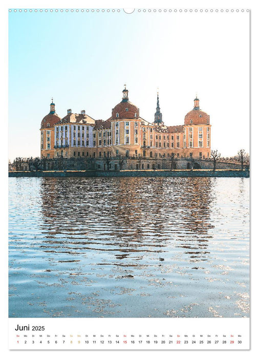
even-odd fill
[{"label": "low dark shoreline strip between castle terrace and lake", "polygon": [[52,171],[9,171],[9,177],[136,177],[136,176],[170,176],[170,177],[249,177],[249,170],[235,169],[185,169],[185,170],[52,170]]}]

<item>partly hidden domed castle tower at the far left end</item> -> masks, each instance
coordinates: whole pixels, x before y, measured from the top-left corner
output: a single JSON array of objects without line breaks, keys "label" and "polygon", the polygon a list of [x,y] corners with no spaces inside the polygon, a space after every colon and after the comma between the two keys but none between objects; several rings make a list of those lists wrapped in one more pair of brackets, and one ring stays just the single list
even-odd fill
[{"label": "partly hidden domed castle tower at the far left end", "polygon": [[54,125],[59,122],[61,117],[56,114],[55,103],[50,103],[50,112],[41,121],[40,128],[40,156],[54,158]]}]

